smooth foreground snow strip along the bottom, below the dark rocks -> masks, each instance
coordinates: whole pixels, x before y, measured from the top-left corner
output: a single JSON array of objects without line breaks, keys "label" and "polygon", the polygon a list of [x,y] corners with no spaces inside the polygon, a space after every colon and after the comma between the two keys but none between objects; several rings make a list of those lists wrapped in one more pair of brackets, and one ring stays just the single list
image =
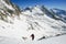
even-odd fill
[{"label": "smooth foreground snow strip along the bottom, below the dark rocks", "polygon": [[42,41],[21,41],[18,38],[0,36],[0,44],[66,44],[66,35],[44,38]]}]

